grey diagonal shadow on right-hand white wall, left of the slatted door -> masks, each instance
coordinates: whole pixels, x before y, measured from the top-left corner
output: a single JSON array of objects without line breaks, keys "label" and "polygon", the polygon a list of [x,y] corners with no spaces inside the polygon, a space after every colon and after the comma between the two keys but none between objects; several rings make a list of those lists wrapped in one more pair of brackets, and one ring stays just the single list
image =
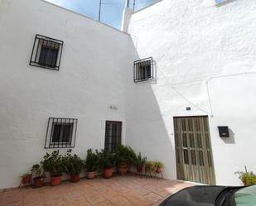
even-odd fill
[{"label": "grey diagonal shadow on right-hand white wall, left of the slatted door", "polygon": [[[136,49],[133,50],[131,61],[142,59]],[[174,136],[170,136],[167,131],[167,127],[173,127],[173,119],[172,116],[169,117],[166,126],[156,94],[152,89],[157,79],[133,83],[133,69],[131,70],[128,76],[126,102],[126,143],[132,146],[134,151],[140,151],[143,156],[147,156],[147,160],[161,160],[165,165],[164,177],[176,179],[175,146],[174,140],[171,140]],[[155,62],[154,70],[156,73]]]}]

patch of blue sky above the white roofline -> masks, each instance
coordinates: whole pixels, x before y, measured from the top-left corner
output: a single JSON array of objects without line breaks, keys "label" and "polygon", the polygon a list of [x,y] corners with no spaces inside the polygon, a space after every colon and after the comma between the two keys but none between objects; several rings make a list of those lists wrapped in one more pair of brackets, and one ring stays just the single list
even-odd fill
[{"label": "patch of blue sky above the white roofline", "polygon": [[[46,0],[53,2],[60,7],[84,14],[98,20],[99,0]],[[120,28],[125,0],[102,0],[101,22]],[[135,10],[150,5],[157,0],[136,0]],[[130,0],[130,7],[133,7],[133,0]]]}]

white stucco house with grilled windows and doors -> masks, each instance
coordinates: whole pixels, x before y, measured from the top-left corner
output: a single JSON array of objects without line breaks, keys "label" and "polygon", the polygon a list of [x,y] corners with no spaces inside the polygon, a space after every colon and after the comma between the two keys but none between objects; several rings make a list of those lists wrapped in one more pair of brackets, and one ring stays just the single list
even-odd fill
[{"label": "white stucco house with grilled windows and doors", "polygon": [[256,2],[162,0],[123,31],[43,0],[0,0],[0,188],[48,151],[122,143],[167,179],[256,170]]}]

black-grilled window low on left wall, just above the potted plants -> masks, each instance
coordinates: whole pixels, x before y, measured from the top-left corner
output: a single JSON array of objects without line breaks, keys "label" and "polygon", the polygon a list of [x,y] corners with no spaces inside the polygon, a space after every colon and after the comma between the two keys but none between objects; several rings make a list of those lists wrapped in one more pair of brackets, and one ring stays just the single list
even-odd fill
[{"label": "black-grilled window low on left wall, just above the potted plants", "polygon": [[77,119],[50,117],[46,132],[45,148],[73,148]]}]

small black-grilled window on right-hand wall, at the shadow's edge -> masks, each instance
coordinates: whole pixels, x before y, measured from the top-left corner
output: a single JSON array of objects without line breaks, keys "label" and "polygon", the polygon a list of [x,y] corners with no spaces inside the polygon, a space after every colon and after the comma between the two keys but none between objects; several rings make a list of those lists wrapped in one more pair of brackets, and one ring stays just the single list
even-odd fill
[{"label": "small black-grilled window on right-hand wall, at the shadow's edge", "polygon": [[134,82],[141,82],[153,79],[153,60],[152,57],[136,60],[133,63]]}]

